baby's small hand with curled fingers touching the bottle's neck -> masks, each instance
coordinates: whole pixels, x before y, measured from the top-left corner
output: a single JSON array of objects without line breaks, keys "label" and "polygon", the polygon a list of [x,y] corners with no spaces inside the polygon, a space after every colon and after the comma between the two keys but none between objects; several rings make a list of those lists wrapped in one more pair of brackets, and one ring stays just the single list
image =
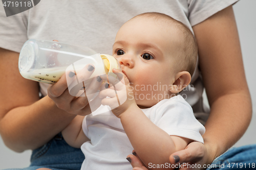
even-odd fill
[{"label": "baby's small hand with curled fingers touching the bottle's neck", "polygon": [[[136,105],[133,90],[127,77],[118,69],[113,68],[113,72],[118,78],[111,75],[108,78],[106,75],[100,76],[103,80],[109,82],[110,87],[108,87],[108,83],[105,83],[102,88],[106,89],[101,89],[99,98],[105,98],[102,99],[101,104],[110,106],[112,112],[120,118],[121,114],[128,108],[138,106]],[[106,98],[106,96],[110,98]]]}]

